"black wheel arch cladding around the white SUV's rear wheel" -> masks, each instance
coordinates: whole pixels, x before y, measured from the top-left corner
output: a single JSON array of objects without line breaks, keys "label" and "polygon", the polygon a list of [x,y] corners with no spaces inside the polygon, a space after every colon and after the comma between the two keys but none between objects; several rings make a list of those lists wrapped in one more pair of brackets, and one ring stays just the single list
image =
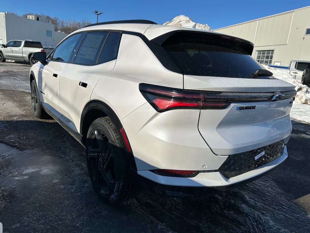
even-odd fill
[{"label": "black wheel arch cladding around the white SUV's rear wheel", "polygon": [[[113,123],[115,124],[117,128],[118,134],[120,135],[122,139],[122,144],[126,151],[126,155],[129,158],[128,162],[129,162],[130,168],[136,171],[137,167],[135,164],[135,158],[132,153],[132,149],[131,149],[131,152],[126,150],[126,141],[124,137],[122,136],[122,132],[121,132],[121,129],[123,128],[121,121],[118,119],[116,113],[112,110],[112,108],[100,100],[91,100],[85,105],[82,111],[81,122],[80,122],[80,133],[82,134],[83,144],[86,145],[86,136],[87,136],[88,129],[91,126],[91,123],[100,117],[109,117],[113,121]],[[128,138],[127,140],[130,145]]]}]

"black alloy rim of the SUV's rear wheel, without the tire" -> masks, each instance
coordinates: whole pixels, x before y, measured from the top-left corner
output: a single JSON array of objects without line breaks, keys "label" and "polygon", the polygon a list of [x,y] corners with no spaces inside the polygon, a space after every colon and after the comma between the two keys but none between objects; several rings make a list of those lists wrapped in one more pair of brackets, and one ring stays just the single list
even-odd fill
[{"label": "black alloy rim of the SUV's rear wheel, without the tire", "polygon": [[91,131],[87,152],[94,188],[103,196],[109,197],[115,188],[115,151],[100,128]]}]

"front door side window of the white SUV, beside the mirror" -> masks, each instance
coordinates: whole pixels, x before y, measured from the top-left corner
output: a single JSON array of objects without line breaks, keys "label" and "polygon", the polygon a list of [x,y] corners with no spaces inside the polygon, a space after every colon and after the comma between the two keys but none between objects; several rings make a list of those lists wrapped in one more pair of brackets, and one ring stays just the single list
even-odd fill
[{"label": "front door side window of the white SUV, beside the mirror", "polygon": [[51,60],[68,62],[80,36],[81,33],[75,34],[65,39],[60,45],[57,46]]}]

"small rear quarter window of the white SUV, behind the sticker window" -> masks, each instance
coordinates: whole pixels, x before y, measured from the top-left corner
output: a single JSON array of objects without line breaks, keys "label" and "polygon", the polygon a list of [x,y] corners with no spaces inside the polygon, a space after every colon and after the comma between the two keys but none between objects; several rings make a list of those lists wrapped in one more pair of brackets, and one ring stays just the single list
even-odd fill
[{"label": "small rear quarter window of the white SUV, behind the sticker window", "polygon": [[117,58],[119,41],[121,34],[117,32],[111,32],[107,41],[104,44],[102,52],[99,57],[98,63],[112,61]]}]

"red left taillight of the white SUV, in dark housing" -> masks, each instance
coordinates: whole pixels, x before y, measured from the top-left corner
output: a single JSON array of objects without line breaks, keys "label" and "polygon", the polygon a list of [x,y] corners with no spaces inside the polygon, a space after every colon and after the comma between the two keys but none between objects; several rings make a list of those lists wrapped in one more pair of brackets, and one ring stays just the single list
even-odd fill
[{"label": "red left taillight of the white SUV, in dark housing", "polygon": [[157,112],[171,109],[224,109],[230,103],[223,102],[217,92],[201,92],[140,83],[144,98]]}]

